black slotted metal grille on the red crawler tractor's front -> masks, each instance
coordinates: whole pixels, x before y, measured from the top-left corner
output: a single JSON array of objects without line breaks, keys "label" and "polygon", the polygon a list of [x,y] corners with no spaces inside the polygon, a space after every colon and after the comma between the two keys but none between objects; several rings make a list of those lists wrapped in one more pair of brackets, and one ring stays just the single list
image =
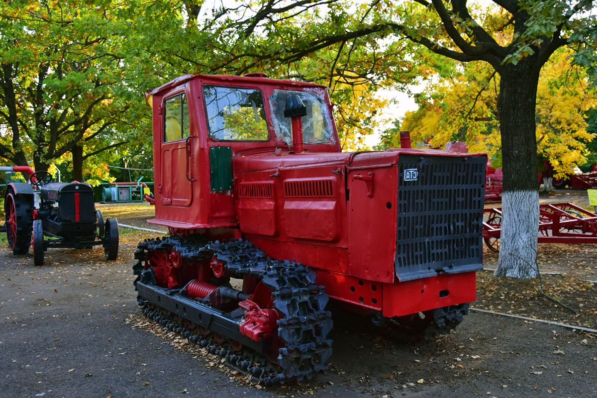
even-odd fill
[{"label": "black slotted metal grille on the red crawler tractor's front", "polygon": [[484,156],[399,155],[396,276],[482,269]]}]

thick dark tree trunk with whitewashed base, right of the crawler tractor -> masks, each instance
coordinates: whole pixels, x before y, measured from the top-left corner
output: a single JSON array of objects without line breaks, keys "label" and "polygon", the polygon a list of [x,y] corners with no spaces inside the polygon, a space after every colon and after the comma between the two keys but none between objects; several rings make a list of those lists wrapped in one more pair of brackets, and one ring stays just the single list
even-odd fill
[{"label": "thick dark tree trunk with whitewashed base, right of the crawler tractor", "polygon": [[535,103],[539,70],[521,60],[500,69],[501,156],[504,190],[496,275],[537,277],[539,195]]}]

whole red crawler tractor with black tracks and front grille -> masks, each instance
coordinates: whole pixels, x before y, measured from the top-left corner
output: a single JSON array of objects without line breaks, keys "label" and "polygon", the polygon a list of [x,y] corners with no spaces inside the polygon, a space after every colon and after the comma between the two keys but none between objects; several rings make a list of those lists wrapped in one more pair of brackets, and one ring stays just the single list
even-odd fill
[{"label": "whole red crawler tractor with black tracks and front grille", "polygon": [[342,153],[325,87],[186,75],[147,93],[155,219],[139,243],[147,316],[264,384],[331,355],[328,298],[449,332],[482,269],[485,155]]}]

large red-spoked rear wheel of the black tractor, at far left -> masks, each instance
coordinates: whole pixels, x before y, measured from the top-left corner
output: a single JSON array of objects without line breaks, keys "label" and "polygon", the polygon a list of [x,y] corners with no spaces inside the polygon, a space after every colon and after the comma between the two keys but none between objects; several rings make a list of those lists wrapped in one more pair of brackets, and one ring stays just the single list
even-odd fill
[{"label": "large red-spoked rear wheel of the black tractor, at far left", "polygon": [[6,237],[8,247],[14,254],[26,254],[31,244],[31,221],[29,202],[19,198],[13,191],[4,201]]}]

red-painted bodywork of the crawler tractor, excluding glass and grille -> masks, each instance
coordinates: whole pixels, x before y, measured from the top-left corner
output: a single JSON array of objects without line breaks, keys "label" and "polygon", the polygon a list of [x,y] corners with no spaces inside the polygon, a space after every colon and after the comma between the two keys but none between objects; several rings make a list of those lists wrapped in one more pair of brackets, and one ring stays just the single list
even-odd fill
[{"label": "red-painted bodywork of the crawler tractor, excluding glass and grille", "polygon": [[[260,90],[269,140],[211,140],[203,84]],[[333,124],[329,143],[304,143],[304,152],[293,153],[273,132],[267,98],[273,90],[315,88],[325,89],[262,77],[187,75],[153,90],[156,217],[149,222],[181,235],[244,237],[269,257],[313,267],[317,283],[326,286],[330,297],[367,311],[382,311],[384,316],[475,300],[474,272],[398,282],[394,260],[399,156],[479,154],[408,148],[343,153]],[[181,92],[189,104],[193,139],[188,148],[184,140],[162,143],[164,101]],[[331,112],[327,94],[324,103]],[[234,180],[228,192],[211,190],[213,146],[232,149]],[[449,293],[440,297],[442,291]],[[241,332],[253,340],[275,327],[275,314],[262,310],[269,306],[257,302],[246,303],[248,316],[241,325]]]}]

